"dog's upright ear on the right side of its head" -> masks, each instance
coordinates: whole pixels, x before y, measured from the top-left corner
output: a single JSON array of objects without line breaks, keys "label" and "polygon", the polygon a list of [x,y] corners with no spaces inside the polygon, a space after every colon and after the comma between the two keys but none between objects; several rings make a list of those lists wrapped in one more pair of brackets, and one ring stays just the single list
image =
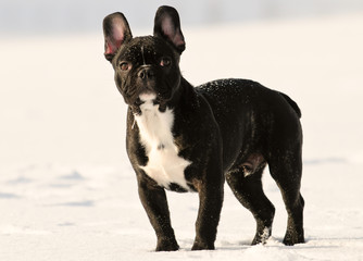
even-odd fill
[{"label": "dog's upright ear on the right side of its head", "polygon": [[160,7],[155,14],[153,35],[170,41],[182,54],[185,40],[178,12],[171,7]]}]

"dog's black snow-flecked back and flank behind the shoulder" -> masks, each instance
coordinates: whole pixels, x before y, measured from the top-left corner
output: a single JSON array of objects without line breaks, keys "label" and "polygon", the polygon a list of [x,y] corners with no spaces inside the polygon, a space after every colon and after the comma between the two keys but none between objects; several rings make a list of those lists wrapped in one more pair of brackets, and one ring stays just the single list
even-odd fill
[{"label": "dog's black snow-flecked back and flank behind the shoulder", "polygon": [[225,171],[238,166],[236,154],[248,158],[258,151],[267,160],[266,151],[276,137],[285,135],[284,140],[296,142],[302,136],[300,109],[285,94],[253,80],[233,78],[210,82],[196,90],[208,100],[220,126]]}]

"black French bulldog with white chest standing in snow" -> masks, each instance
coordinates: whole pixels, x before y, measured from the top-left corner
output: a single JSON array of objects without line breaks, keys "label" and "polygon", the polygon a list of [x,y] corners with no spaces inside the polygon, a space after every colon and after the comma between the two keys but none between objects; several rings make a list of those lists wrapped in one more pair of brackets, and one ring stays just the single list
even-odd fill
[{"label": "black French bulldog with white chest standing in snow", "polygon": [[157,251],[177,250],[165,188],[197,191],[192,250],[214,249],[226,179],[256,221],[252,244],[271,236],[274,206],[262,190],[266,164],[288,212],[286,245],[304,241],[300,195],[300,110],[286,95],[247,79],[193,88],[180,74],[185,50],[178,13],[161,7],[153,36],[133,38],[122,13],[103,21],[104,55],[128,104],[127,152]]}]

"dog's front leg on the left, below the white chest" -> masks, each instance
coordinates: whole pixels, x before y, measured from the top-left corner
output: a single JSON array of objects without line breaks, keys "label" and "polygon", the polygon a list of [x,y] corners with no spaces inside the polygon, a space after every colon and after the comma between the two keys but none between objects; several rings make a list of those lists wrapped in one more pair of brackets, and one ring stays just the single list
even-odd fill
[{"label": "dog's front leg on the left, below the white chest", "polygon": [[138,175],[141,203],[158,237],[157,251],[175,251],[179,246],[171,225],[165,190],[148,177]]}]

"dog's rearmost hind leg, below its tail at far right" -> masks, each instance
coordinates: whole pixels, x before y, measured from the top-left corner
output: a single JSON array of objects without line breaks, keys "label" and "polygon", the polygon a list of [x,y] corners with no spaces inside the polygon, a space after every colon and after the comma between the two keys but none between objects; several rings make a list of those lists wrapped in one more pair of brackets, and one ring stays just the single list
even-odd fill
[{"label": "dog's rearmost hind leg, below its tail at far right", "polygon": [[270,172],[276,181],[288,213],[287,231],[284,244],[292,246],[304,243],[303,208],[304,200],[300,194],[302,161],[301,152],[285,152],[268,162]]}]

